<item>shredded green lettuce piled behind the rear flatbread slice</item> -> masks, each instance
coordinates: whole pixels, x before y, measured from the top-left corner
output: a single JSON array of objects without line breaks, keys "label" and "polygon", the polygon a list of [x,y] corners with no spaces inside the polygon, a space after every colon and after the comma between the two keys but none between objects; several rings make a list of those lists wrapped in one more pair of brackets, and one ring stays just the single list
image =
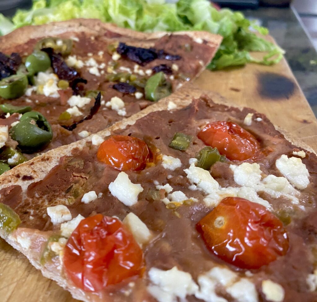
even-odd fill
[{"label": "shredded green lettuce piled behind the rear flatbread slice", "polygon": [[[153,32],[159,30],[206,30],[223,36],[219,50],[209,64],[211,70],[247,63],[272,65],[284,51],[263,39],[268,29],[241,12],[215,9],[208,0],[33,0],[29,10],[18,10],[13,18],[0,14],[0,34],[25,25],[40,25],[74,18],[97,18],[120,27]],[[177,2],[177,3],[175,3]],[[264,53],[261,59],[251,52]]]}]

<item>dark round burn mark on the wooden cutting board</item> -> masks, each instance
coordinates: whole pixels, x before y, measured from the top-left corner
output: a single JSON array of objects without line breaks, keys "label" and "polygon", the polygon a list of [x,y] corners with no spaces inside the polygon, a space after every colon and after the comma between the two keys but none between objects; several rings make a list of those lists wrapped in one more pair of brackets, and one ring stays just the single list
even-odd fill
[{"label": "dark round burn mark on the wooden cutting board", "polygon": [[295,91],[295,83],[285,76],[272,72],[258,74],[258,91],[264,98],[290,98]]}]

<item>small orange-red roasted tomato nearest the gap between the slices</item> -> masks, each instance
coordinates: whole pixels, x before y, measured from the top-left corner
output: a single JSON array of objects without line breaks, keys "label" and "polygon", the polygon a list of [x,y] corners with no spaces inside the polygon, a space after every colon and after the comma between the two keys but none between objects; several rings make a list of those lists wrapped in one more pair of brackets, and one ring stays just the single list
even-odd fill
[{"label": "small orange-red roasted tomato nearest the gap between the slices", "polygon": [[104,141],[97,152],[98,160],[120,171],[139,171],[146,167],[150,151],[139,138],[113,135]]}]

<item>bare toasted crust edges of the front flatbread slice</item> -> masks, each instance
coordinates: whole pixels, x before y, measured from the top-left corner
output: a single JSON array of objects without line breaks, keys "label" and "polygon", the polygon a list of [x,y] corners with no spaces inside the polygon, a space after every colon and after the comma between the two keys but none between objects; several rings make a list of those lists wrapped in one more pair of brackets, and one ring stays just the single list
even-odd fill
[{"label": "bare toasted crust edges of the front flatbread slice", "polygon": [[[109,136],[110,133],[114,130],[125,129],[128,125],[133,125],[138,119],[146,116],[149,113],[167,110],[168,104],[170,102],[175,103],[177,105],[177,109],[184,108],[188,106],[193,99],[199,98],[202,95],[206,95],[217,104],[232,106],[232,104],[229,101],[227,101],[226,99],[224,99],[216,93],[210,91],[201,91],[199,89],[195,89],[192,87],[182,88],[175,94],[162,99],[159,103],[154,104],[151,107],[148,107],[145,110],[135,114],[134,116],[131,116],[130,118],[127,118],[119,123],[116,123],[103,131],[100,131],[99,133],[97,133],[97,135],[101,137],[106,137]],[[239,109],[242,110],[243,108]],[[255,110],[251,109],[250,112],[256,113]],[[284,133],[284,131],[281,133]],[[70,145],[62,146],[54,150],[50,150],[45,154],[37,156],[36,158],[29,160],[28,162],[25,162],[8,172],[5,172],[0,176],[0,190],[8,188],[12,185],[18,185],[22,187],[23,192],[26,192],[28,186],[34,182],[43,179],[49,173],[51,168],[53,168],[55,165],[59,163],[59,160],[62,156],[71,155],[71,152],[74,148],[84,147],[86,142],[91,142],[92,137],[93,135],[90,135],[89,137],[82,139],[81,141],[74,142]],[[299,140],[295,139],[291,135],[288,135],[287,137],[288,139],[290,139],[291,142],[297,143],[299,147],[309,149],[313,152],[313,150],[310,147],[305,146]],[[45,163],[45,165],[43,163]],[[29,176],[32,176],[33,179],[29,179]],[[48,204],[45,204],[45,201],[41,200],[41,198],[39,198],[38,201],[42,203],[43,207],[49,206]],[[19,205],[19,211],[23,212],[23,204]],[[87,293],[78,289],[77,287],[70,285],[67,282],[67,280],[61,274],[61,267],[55,267],[52,270],[47,269],[47,267],[45,266],[42,266],[39,262],[40,251],[34,251],[32,249],[29,249],[29,247],[25,246],[21,240],[17,240],[18,236],[20,238],[27,238],[31,242],[41,240],[42,234],[40,231],[31,230],[30,232],[29,230],[30,229],[18,228],[9,236],[6,236],[6,234],[4,234],[3,231],[0,231],[0,236],[3,239],[5,239],[6,242],[8,242],[15,249],[22,252],[29,259],[33,266],[41,270],[42,274],[45,277],[55,280],[61,287],[67,289],[75,299],[80,299],[87,302],[91,301],[91,297],[88,297]]]}]

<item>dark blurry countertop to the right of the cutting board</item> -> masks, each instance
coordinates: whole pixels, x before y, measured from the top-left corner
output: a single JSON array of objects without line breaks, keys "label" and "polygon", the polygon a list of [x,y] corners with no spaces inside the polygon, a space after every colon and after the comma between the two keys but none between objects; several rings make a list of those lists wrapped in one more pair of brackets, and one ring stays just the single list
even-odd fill
[{"label": "dark blurry countertop to the right of the cutting board", "polygon": [[[285,58],[317,116],[317,52],[296,11],[292,8],[261,7],[242,12],[249,18],[259,19],[286,51]],[[315,65],[311,64],[311,60],[316,60]]]}]

